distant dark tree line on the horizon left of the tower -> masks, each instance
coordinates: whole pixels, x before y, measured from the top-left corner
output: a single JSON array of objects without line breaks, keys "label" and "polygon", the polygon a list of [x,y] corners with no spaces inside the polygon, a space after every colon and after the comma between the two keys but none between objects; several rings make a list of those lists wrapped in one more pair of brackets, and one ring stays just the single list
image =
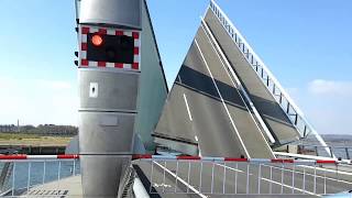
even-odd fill
[{"label": "distant dark tree line on the horizon left of the tower", "polygon": [[28,133],[38,135],[62,135],[62,136],[74,136],[78,133],[78,128],[74,125],[55,125],[55,124],[40,124],[34,125],[0,125],[0,132],[3,133]]}]

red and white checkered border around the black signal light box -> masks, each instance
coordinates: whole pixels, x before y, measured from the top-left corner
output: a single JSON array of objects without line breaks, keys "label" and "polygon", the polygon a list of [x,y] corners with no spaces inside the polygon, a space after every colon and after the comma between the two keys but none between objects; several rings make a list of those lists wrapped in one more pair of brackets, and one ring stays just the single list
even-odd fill
[{"label": "red and white checkered border around the black signal light box", "polygon": [[[140,32],[139,31],[129,31],[120,29],[110,29],[110,28],[96,28],[96,26],[80,26],[80,66],[79,67],[110,67],[110,68],[121,68],[128,70],[140,70]],[[134,51],[133,51],[133,64],[125,63],[109,63],[109,62],[92,62],[87,59],[87,40],[88,33],[99,33],[108,35],[127,35],[134,38]]]}]

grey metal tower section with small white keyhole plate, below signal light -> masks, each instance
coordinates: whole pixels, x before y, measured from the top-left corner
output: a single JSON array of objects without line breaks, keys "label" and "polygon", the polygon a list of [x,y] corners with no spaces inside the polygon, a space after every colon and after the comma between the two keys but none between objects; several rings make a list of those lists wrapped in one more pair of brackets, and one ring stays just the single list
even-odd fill
[{"label": "grey metal tower section with small white keyhole plate, below signal light", "polygon": [[80,109],[135,111],[139,74],[79,69]]}]

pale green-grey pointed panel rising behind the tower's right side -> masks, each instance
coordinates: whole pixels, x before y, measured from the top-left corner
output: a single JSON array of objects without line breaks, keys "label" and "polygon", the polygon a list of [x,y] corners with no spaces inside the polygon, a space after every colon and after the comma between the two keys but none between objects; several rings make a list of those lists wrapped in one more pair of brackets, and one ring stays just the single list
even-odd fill
[{"label": "pale green-grey pointed panel rising behind the tower's right side", "polygon": [[150,21],[146,2],[143,3],[143,31],[141,32],[141,63],[143,66],[140,77],[138,116],[135,132],[141,136],[145,148],[155,150],[151,132],[155,129],[161,117],[167,96],[167,84],[163,65],[158,55],[153,26]]}]

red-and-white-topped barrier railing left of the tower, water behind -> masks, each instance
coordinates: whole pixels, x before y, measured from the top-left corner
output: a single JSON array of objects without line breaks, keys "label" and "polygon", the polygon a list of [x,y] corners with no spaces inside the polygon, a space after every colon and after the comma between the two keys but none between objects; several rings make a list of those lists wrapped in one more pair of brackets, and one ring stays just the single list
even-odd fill
[{"label": "red-and-white-topped barrier railing left of the tower, water behind", "polygon": [[[12,173],[2,197],[65,196],[62,179],[80,174],[78,155],[1,155],[0,164],[6,163]],[[44,188],[48,183],[51,187]]]}]

